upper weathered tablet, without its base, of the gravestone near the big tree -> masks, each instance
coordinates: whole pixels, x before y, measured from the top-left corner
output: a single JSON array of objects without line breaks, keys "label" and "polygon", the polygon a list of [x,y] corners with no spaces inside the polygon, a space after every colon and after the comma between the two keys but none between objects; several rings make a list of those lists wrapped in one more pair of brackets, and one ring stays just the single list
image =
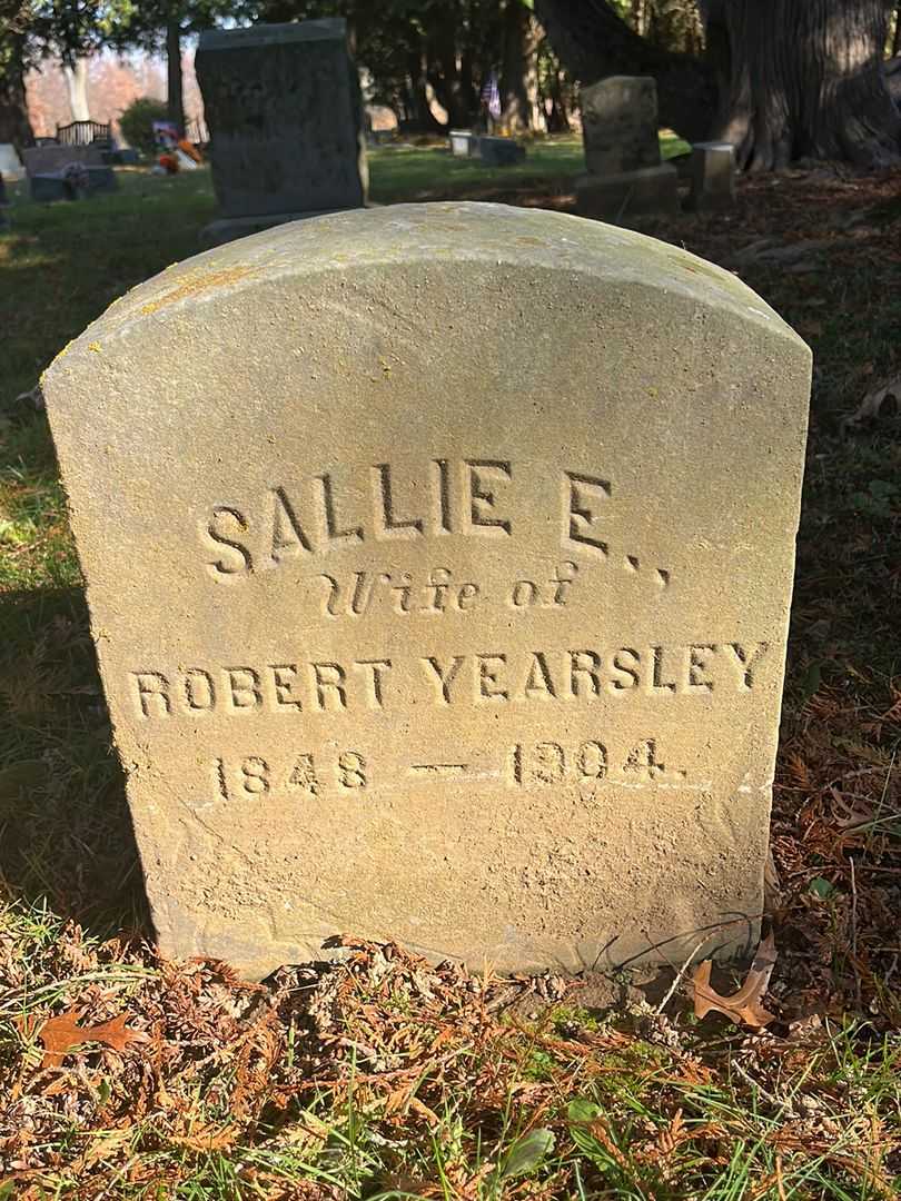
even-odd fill
[{"label": "upper weathered tablet, without its base, of the gravestone near the big tree", "polygon": [[593,174],[656,167],[657,84],[650,76],[610,76],[583,88],[581,136]]}]

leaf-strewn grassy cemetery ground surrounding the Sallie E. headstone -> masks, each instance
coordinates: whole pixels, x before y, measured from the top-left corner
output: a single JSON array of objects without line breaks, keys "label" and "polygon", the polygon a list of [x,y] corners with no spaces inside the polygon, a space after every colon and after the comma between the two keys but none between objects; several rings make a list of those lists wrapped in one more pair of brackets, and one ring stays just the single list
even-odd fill
[{"label": "leaf-strewn grassy cemetery ground surrounding the Sallie E. headstone", "polygon": [[[566,210],[580,157],[386,149],[372,191]],[[901,419],[842,420],[893,380],[901,402],[901,174],[742,180],[728,217],[645,227],[815,349],[758,1032],[697,1021],[681,964],[511,981],[351,940],[263,987],[155,956],[46,419],[14,399],[196,247],[205,172],[120,181],[0,234],[0,1201],[897,1196]],[[101,1024],[70,1053],[65,1015],[135,1038]]]}]

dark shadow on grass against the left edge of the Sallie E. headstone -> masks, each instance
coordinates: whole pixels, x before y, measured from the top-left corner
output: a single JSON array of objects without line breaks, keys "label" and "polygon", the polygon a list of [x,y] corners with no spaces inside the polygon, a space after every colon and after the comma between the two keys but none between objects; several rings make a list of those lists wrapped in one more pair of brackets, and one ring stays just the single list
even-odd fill
[{"label": "dark shadow on grass against the left edge of the Sallie E. headstone", "polygon": [[150,932],[77,587],[0,596],[0,886],[95,934]]}]

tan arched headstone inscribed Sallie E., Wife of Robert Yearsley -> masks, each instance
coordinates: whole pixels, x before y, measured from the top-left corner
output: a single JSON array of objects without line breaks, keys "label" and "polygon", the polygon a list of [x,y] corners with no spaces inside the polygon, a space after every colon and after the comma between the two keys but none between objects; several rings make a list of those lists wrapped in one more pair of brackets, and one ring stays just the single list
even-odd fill
[{"label": "tan arched headstone inscribed Sallie E., Wife of Robert Yearsley", "polygon": [[729,273],[503,205],[119,299],[43,388],[163,949],[753,938],[808,383]]}]

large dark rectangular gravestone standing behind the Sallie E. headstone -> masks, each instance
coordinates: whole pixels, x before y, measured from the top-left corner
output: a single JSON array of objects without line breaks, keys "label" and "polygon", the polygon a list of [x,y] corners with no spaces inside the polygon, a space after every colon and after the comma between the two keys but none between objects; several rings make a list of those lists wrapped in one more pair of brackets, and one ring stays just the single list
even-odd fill
[{"label": "large dark rectangular gravestone standing behind the Sallie E. headstone", "polygon": [[220,209],[204,243],[365,204],[363,101],[342,19],[204,30],[196,70]]}]

